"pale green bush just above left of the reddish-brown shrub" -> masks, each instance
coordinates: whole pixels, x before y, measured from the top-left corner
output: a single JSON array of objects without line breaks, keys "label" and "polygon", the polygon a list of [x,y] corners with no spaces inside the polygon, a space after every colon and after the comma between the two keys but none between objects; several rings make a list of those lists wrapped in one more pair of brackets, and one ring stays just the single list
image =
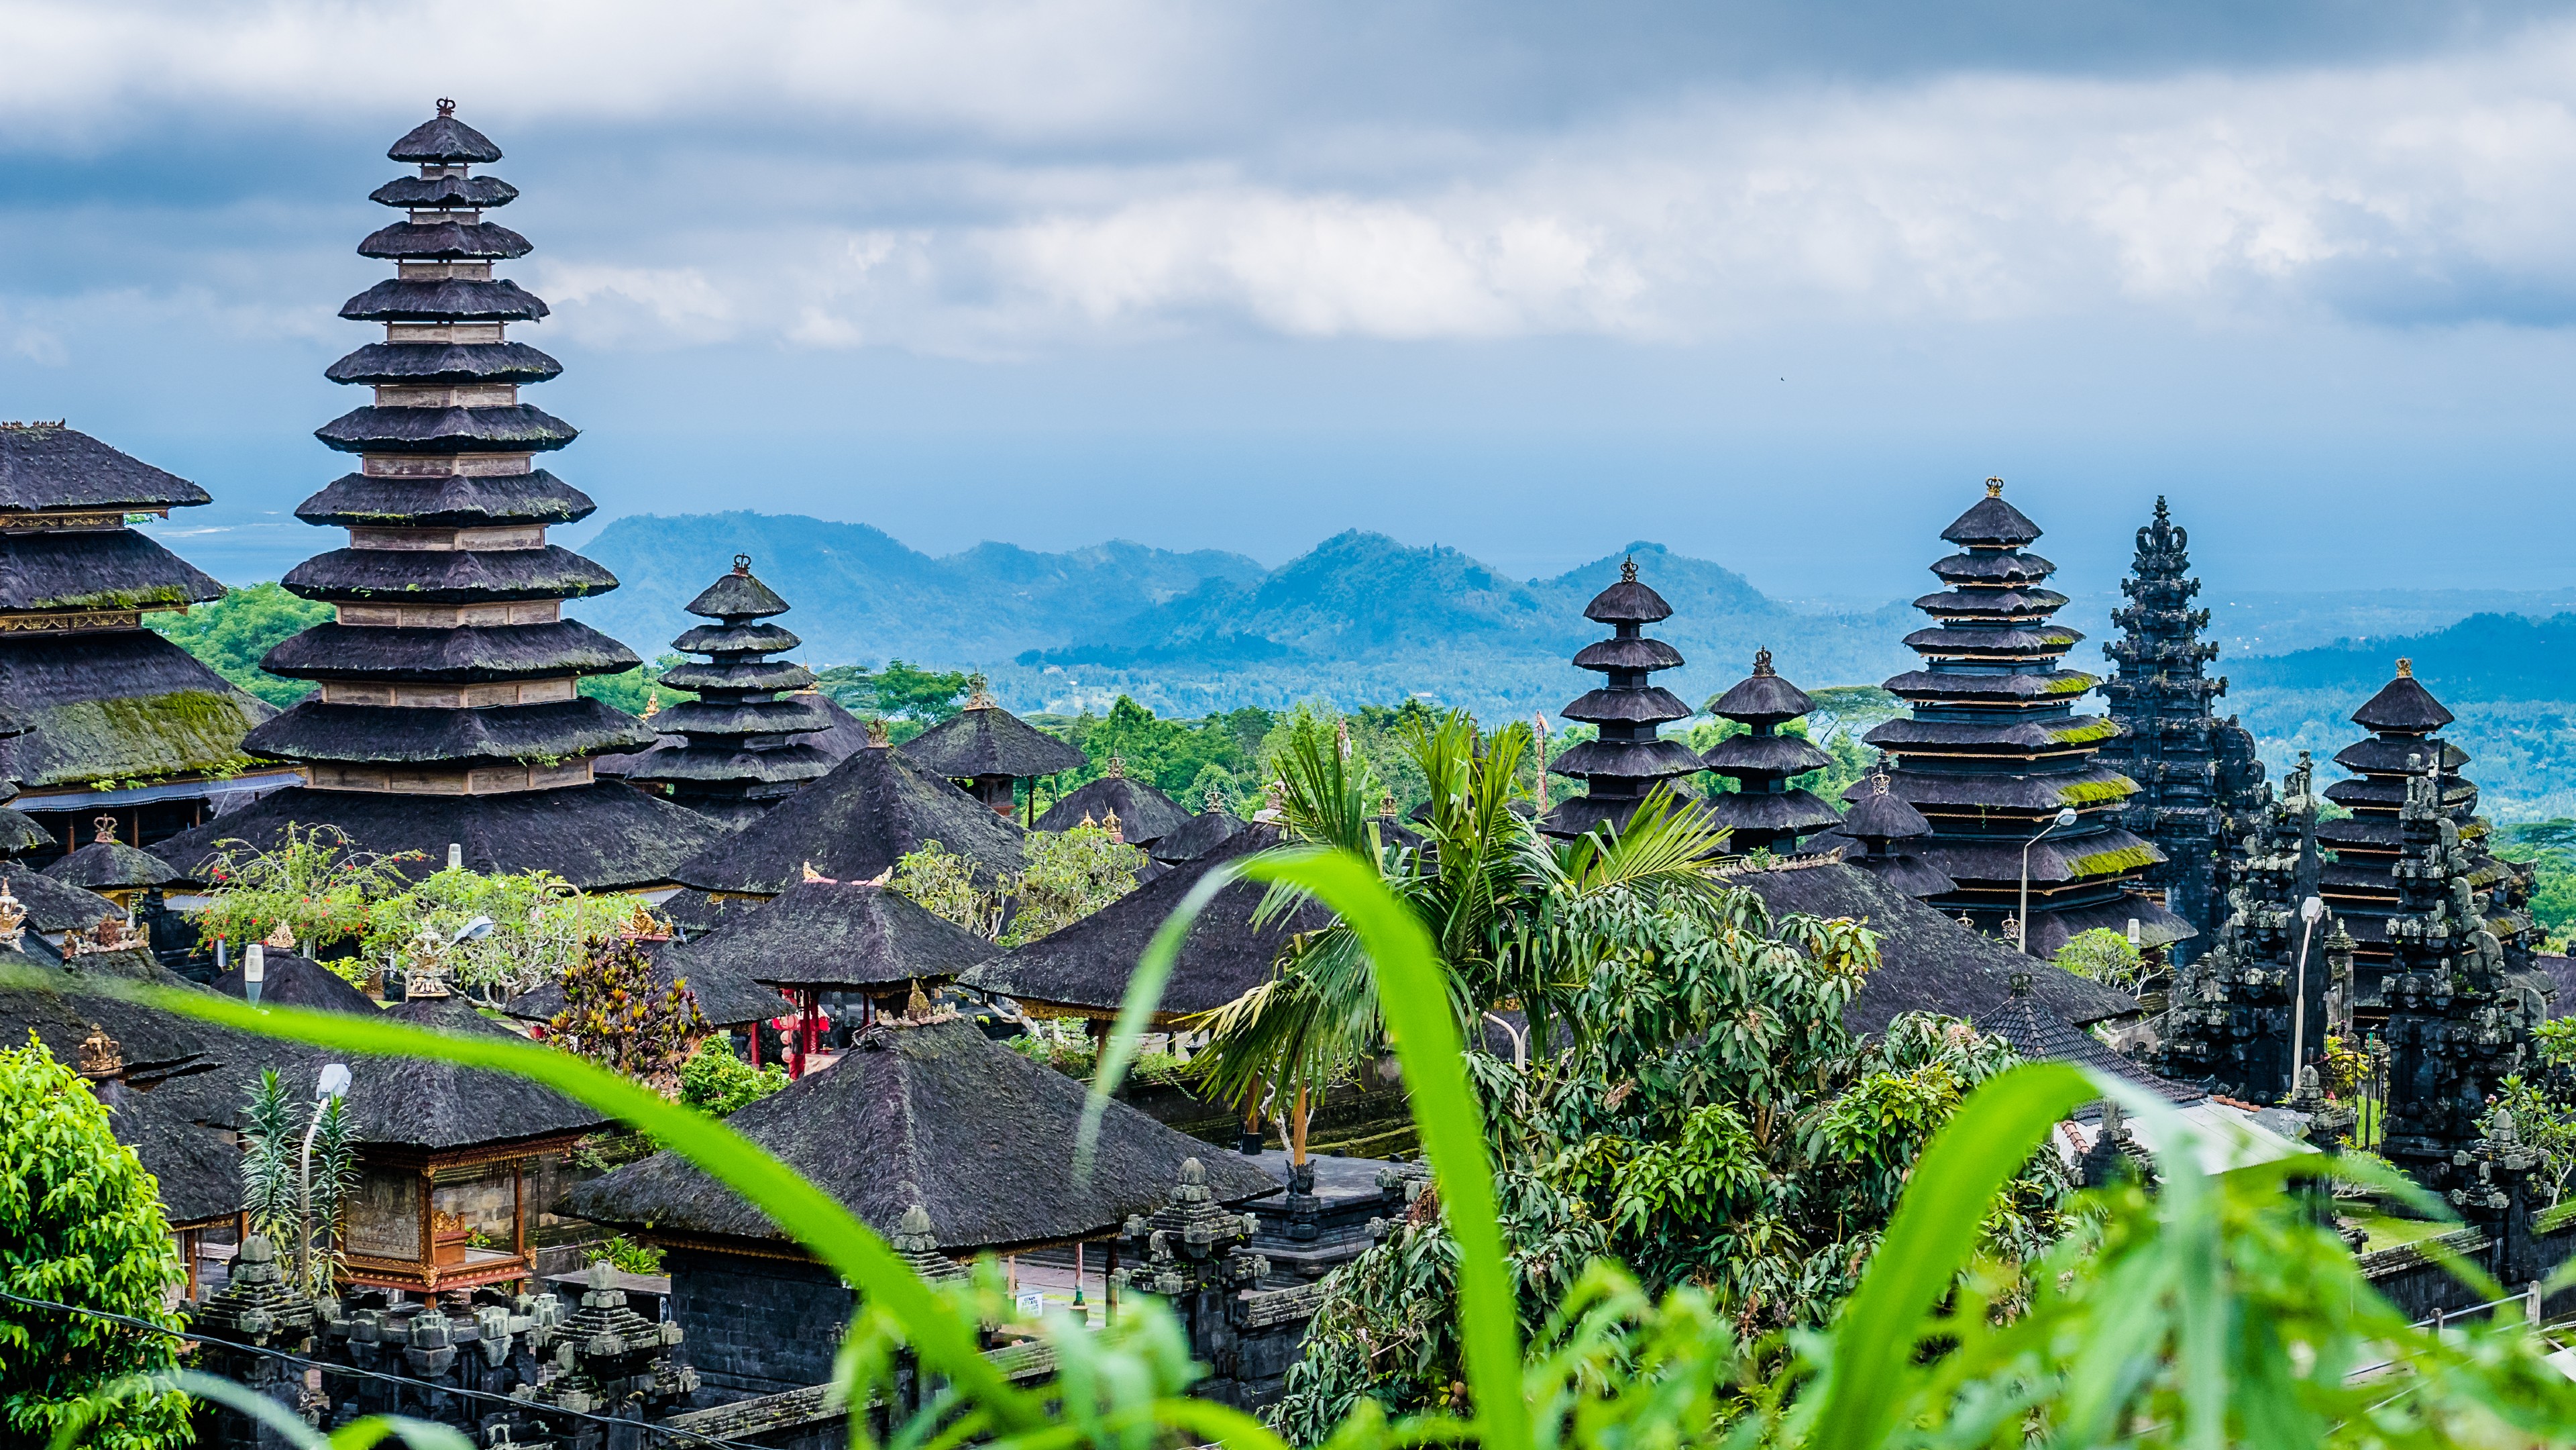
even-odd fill
[{"label": "pale green bush just above left of the reddish-brown shrub", "polygon": [[[489,917],[482,937],[459,940],[477,917]],[[399,958],[404,971],[425,971],[487,1007],[587,961],[618,932],[654,927],[652,914],[621,894],[592,896],[551,871],[482,873],[446,868],[399,896],[368,907],[363,950],[371,961]]]}]

